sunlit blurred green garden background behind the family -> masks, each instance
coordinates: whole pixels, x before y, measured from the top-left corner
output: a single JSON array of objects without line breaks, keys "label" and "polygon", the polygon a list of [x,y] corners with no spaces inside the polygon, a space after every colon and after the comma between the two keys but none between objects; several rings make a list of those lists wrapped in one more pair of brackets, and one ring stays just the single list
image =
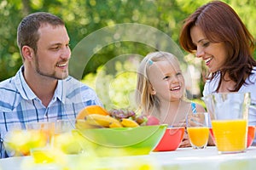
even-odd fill
[{"label": "sunlit blurred green garden background behind the family", "polygon": [[[16,45],[16,28],[27,14],[45,11],[56,14],[66,23],[71,38],[71,48],[75,49],[84,38],[109,26],[124,23],[137,23],[151,26],[170,37],[178,46],[178,35],[183,20],[206,0],[2,0],[0,2],[0,82],[13,77],[22,65]],[[241,16],[247,28],[256,37],[256,0],[225,0]],[[135,32],[136,33],[136,32]],[[149,36],[140,34],[140,38]],[[135,41],[116,41],[105,46],[101,35],[92,37],[88,44],[92,49],[88,62],[84,64],[79,78],[96,89],[99,98],[107,109],[136,109],[134,92],[137,81],[137,65],[143,56],[158,49],[148,43]],[[113,35],[119,39],[119,35]],[[150,39],[150,38],[149,38]],[[186,77],[189,99],[200,99],[204,85],[201,59],[187,54],[179,57],[183,74]],[[85,55],[86,53],[84,53]],[[75,55],[72,55],[75,58]],[[254,58],[256,54],[254,52]],[[77,61],[76,59],[74,59]],[[78,61],[79,62],[79,61]],[[75,71],[76,67],[70,67]],[[71,71],[71,76],[75,76]]]}]

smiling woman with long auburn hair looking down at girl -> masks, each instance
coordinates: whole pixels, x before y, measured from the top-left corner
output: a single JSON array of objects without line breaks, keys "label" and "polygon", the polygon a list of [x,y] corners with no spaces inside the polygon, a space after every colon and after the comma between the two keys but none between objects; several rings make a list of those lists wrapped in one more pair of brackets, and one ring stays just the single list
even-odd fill
[{"label": "smiling woman with long auburn hair looking down at girl", "polygon": [[[233,8],[220,1],[201,6],[185,20],[179,41],[184,50],[204,59],[208,67],[204,96],[250,92],[252,103],[256,103],[254,38]],[[256,125],[253,107],[249,124]]]}]

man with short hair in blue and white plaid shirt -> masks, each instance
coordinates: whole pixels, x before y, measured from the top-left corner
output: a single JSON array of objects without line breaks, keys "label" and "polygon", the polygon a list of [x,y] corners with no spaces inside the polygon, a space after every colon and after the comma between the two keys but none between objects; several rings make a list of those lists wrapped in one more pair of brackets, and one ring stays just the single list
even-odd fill
[{"label": "man with short hair in blue and white plaid shirt", "polygon": [[2,158],[10,127],[74,119],[86,105],[102,105],[91,88],[68,76],[69,41],[64,22],[53,14],[39,12],[21,20],[17,42],[23,65],[15,77],[0,82]]}]

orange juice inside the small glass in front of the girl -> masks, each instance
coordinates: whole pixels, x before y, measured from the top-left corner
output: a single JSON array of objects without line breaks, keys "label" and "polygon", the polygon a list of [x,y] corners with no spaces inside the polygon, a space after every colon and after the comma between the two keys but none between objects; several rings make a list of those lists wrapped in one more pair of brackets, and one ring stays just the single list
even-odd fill
[{"label": "orange juice inside the small glass in front of the girl", "polygon": [[209,138],[208,127],[187,127],[189,140],[195,147],[205,147]]}]

